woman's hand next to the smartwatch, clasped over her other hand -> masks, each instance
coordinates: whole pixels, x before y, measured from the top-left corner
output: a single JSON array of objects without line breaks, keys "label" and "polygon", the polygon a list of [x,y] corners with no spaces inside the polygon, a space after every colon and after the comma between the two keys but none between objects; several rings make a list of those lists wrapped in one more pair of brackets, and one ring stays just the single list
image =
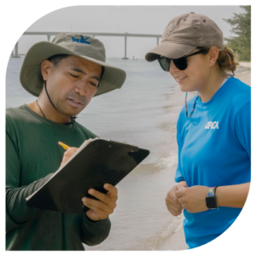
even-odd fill
[{"label": "woman's hand next to the smartwatch, clasped over her other hand", "polygon": [[208,187],[194,186],[190,188],[178,189],[175,195],[179,204],[189,213],[205,212],[207,207]]}]

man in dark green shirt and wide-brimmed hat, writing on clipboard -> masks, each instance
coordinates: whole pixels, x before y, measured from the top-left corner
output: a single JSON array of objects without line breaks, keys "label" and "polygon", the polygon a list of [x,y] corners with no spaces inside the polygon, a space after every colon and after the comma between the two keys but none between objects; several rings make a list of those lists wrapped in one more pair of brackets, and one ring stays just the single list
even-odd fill
[{"label": "man in dark green shirt and wide-brimmed hat, writing on clipboard", "polygon": [[[83,252],[104,241],[118,191],[90,189],[99,201],[83,198],[84,216],[26,207],[32,195],[69,160],[85,140],[96,137],[75,119],[93,96],[121,88],[125,71],[108,65],[103,44],[75,33],[59,34],[28,51],[20,83],[36,102],[4,110],[4,250]],[[64,154],[58,142],[70,148]],[[64,157],[63,157],[64,154]],[[72,175],[72,173],[70,173]]]}]

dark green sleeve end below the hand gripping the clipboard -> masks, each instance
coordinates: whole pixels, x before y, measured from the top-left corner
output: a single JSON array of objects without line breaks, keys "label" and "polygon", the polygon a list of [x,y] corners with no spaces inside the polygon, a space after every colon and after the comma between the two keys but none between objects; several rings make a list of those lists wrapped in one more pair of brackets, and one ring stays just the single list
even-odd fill
[{"label": "dark green sleeve end below the hand gripping the clipboard", "polygon": [[109,218],[91,222],[84,214],[81,241],[90,247],[96,246],[108,238],[110,229],[111,222]]}]

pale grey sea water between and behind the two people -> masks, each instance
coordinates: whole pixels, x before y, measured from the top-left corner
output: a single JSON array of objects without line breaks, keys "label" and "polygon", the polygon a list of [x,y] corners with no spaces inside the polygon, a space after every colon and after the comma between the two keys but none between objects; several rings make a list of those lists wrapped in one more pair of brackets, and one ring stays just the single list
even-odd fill
[{"label": "pale grey sea water between and behind the two people", "polygon": [[[4,108],[36,100],[20,85],[23,60],[9,58],[7,63]],[[118,207],[110,216],[108,239],[96,247],[84,247],[91,252],[175,251],[175,247],[168,247],[168,241],[181,226],[183,215],[173,217],[165,198],[175,183],[176,123],[183,98],[175,80],[157,61],[107,62],[125,70],[125,84],[120,90],[93,98],[77,121],[98,137],[131,143],[151,153],[117,185]]]}]

